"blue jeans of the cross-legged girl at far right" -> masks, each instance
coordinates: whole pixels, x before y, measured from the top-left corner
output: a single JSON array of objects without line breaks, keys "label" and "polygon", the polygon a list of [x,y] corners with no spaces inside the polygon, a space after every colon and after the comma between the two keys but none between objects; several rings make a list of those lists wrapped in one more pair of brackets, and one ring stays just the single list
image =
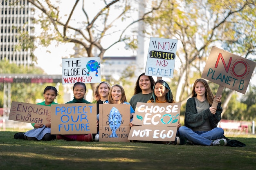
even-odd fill
[{"label": "blue jeans of the cross-legged girl at far right", "polygon": [[186,126],[181,126],[179,132],[180,135],[193,141],[195,144],[206,146],[210,146],[213,140],[220,139],[224,135],[224,130],[222,128],[213,128],[209,131],[193,131]]}]

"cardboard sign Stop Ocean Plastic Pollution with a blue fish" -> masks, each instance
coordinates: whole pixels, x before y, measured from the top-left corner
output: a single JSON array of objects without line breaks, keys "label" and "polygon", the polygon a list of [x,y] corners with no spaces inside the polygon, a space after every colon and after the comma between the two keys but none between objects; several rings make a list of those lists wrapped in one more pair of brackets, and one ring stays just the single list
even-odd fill
[{"label": "cardboard sign Stop Ocean Plastic Pollution with a blue fish", "polygon": [[99,114],[99,141],[128,142],[130,104],[100,104]]}]

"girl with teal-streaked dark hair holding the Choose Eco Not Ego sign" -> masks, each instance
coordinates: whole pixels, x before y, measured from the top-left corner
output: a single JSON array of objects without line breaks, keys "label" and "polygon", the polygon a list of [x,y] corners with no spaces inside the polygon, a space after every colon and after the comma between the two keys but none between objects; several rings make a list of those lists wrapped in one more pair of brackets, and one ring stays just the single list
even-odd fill
[{"label": "girl with teal-streaked dark hair holding the Choose Eco Not Ego sign", "polygon": [[[153,86],[153,94],[147,103],[175,103],[173,100],[173,93],[168,83],[162,79],[158,79]],[[180,128],[178,123],[177,127]],[[132,127],[132,122],[130,123]],[[176,137],[174,142],[162,142],[165,144],[180,144],[180,137]]]}]

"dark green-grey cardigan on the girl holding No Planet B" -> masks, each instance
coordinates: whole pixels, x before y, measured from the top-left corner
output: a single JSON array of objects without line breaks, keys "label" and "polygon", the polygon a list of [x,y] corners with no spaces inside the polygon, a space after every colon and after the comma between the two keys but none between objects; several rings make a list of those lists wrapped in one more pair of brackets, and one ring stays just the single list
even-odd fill
[{"label": "dark green-grey cardigan on the girl holding No Planet B", "polygon": [[209,108],[198,113],[195,105],[195,97],[189,98],[186,102],[185,126],[188,128],[198,127],[202,125],[207,118],[209,118],[211,128],[216,128],[221,119],[222,107],[220,105],[221,103],[218,103],[215,115],[211,113]]}]

